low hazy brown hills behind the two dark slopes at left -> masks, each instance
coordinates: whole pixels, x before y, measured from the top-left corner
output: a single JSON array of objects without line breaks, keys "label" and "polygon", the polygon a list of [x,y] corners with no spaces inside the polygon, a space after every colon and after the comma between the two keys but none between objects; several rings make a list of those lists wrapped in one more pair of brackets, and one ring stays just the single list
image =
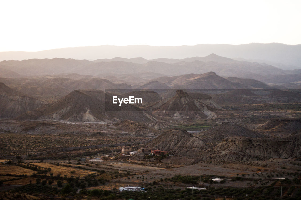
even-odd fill
[{"label": "low hazy brown hills behind the two dark slopes at left", "polygon": [[83,76],[79,74],[61,74],[60,76],[44,76],[29,78],[0,78],[11,88],[27,95],[44,99],[58,100],[73,90],[79,89],[130,89],[127,84],[115,84],[109,80]]}]

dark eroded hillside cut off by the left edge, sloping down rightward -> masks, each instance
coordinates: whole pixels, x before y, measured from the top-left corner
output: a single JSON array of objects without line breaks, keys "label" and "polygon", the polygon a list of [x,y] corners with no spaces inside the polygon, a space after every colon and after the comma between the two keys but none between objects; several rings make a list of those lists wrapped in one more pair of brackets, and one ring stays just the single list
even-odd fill
[{"label": "dark eroded hillside cut off by the left edge, sloping down rightward", "polygon": [[46,102],[17,92],[0,83],[0,118],[13,118],[45,105]]}]

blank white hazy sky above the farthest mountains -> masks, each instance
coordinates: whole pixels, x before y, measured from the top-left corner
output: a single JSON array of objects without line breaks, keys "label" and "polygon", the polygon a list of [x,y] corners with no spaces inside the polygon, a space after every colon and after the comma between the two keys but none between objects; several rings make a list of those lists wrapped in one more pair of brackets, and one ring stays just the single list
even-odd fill
[{"label": "blank white hazy sky above the farthest mountains", "polygon": [[301,44],[301,1],[0,2],[0,51],[147,44]]}]

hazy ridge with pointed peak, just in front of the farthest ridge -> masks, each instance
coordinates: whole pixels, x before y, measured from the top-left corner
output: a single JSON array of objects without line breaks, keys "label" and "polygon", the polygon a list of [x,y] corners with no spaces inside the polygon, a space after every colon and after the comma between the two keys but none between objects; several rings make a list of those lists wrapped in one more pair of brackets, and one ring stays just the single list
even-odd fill
[{"label": "hazy ridge with pointed peak, just in front of the farthest ridge", "polygon": [[[172,63],[170,63],[171,60]],[[271,83],[298,81],[298,77],[300,77],[301,74],[300,70],[283,70],[265,63],[239,61],[218,56],[213,53],[205,57],[197,56],[181,60],[157,59],[145,61],[145,59],[142,58],[132,60],[119,58],[98,61],[99,62],[93,62],[63,58],[28,59],[21,61],[4,60],[0,62],[0,68],[10,70],[11,72],[8,73],[8,75],[14,72],[23,76],[78,73],[104,77],[104,74],[143,74],[147,72],[177,76],[184,74],[183,71],[187,74],[204,74],[214,71],[216,74],[224,77],[256,79]],[[277,76],[281,76],[281,78],[277,78]],[[130,78],[125,77],[122,82],[117,81],[116,83],[129,83],[129,80]],[[281,82],[278,80],[281,80]],[[241,80],[236,81],[240,82]],[[250,81],[244,80],[243,82]],[[249,84],[253,85],[253,88],[258,88],[262,83],[253,82]]]}]

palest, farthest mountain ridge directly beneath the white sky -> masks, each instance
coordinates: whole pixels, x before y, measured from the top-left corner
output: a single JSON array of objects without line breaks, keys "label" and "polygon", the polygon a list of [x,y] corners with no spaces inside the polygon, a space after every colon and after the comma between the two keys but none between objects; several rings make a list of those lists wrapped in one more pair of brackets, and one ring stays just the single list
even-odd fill
[{"label": "palest, farthest mountain ridge directly beneath the white sky", "polygon": [[[106,58],[135,58],[135,62],[144,62],[144,59],[169,58],[183,59],[196,56],[206,56],[211,53],[227,58],[244,58],[262,60],[293,65],[301,68],[301,44],[287,45],[281,43],[250,43],[250,44],[197,44],[194,46],[92,46],[51,49],[38,52],[0,52],[0,60],[23,60],[44,58],[73,58],[73,59],[106,59]],[[141,59],[142,57],[144,59]],[[165,60],[166,61],[166,60]],[[163,62],[165,62],[163,61]],[[162,62],[162,61],[161,61]],[[167,61],[166,61],[167,62]]]}]

